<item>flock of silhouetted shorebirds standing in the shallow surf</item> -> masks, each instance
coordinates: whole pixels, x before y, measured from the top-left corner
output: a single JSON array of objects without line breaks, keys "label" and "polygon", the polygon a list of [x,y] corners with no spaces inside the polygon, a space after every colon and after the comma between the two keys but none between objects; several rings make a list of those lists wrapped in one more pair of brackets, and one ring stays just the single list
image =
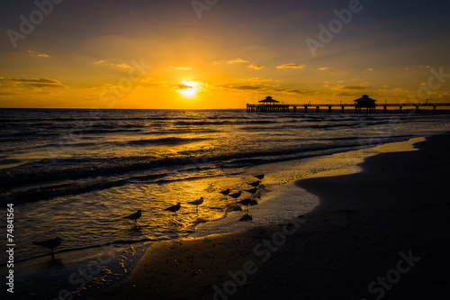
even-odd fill
[{"label": "flock of silhouetted shorebirds standing in the shallow surf", "polygon": [[[238,200],[238,197],[240,197],[242,195],[242,191],[238,191],[236,193],[229,194],[229,193],[231,193],[231,190],[229,188],[219,192],[221,195],[224,195],[226,198],[227,198],[227,196],[230,196],[233,199],[238,200],[238,203],[237,203],[238,205],[246,206],[246,208],[244,210],[245,214],[240,220],[245,220],[245,221],[251,220],[251,216],[248,214],[248,205],[257,205],[257,200],[255,200],[255,194],[257,193],[257,186],[259,186],[259,184],[261,183],[261,180],[263,180],[263,178],[265,176],[264,176],[264,174],[260,174],[260,175],[255,175],[254,177],[257,177],[258,180],[247,184],[248,186],[253,186],[253,188],[244,190],[245,192],[251,194],[251,198],[247,198],[244,200]],[[204,201],[204,198],[200,197],[200,199],[188,202],[187,204],[195,205],[195,212],[198,215],[198,206],[202,205],[203,201]],[[181,203],[178,202],[176,205],[172,205],[172,206],[165,208],[164,211],[176,214],[176,212],[178,212],[180,210],[180,208],[181,208]],[[136,213],[124,216],[122,219],[129,219],[131,221],[134,221],[134,223],[138,223],[138,219],[142,216],[142,212],[144,212],[144,211],[139,209]],[[48,241],[33,241],[32,243],[36,246],[48,248],[50,250],[51,257],[54,259],[53,249],[57,248],[61,244],[61,241],[64,241],[64,240],[57,237],[57,238],[54,238],[54,239],[51,239]]]}]

